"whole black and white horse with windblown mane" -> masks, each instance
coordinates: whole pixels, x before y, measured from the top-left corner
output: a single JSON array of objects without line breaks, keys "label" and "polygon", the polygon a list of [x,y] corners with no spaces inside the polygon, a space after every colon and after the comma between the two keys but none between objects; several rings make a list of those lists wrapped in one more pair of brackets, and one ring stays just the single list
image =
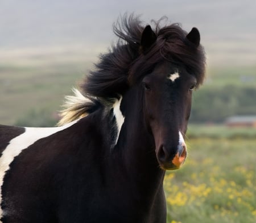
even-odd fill
[{"label": "whole black and white horse with windblown mane", "polygon": [[200,33],[133,14],[113,30],[59,126],[0,126],[2,223],[166,222],[164,174],[185,162],[205,76]]}]

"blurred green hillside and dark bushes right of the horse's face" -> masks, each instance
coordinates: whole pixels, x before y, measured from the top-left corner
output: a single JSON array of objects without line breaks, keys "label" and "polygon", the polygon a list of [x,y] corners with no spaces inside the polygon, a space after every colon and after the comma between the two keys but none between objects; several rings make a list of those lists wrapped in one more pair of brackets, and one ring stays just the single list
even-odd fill
[{"label": "blurred green hillside and dark bushes right of the horse's face", "polygon": [[192,123],[221,123],[232,115],[256,115],[256,67],[214,68],[193,94]]}]

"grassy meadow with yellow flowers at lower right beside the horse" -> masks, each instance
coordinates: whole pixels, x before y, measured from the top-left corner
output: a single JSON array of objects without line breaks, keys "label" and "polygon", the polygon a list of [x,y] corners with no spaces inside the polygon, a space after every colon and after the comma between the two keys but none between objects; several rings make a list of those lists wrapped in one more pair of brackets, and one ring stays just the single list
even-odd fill
[{"label": "grassy meadow with yellow flowers at lower right beside the horse", "polygon": [[191,139],[184,166],[168,171],[167,223],[256,222],[256,139]]}]

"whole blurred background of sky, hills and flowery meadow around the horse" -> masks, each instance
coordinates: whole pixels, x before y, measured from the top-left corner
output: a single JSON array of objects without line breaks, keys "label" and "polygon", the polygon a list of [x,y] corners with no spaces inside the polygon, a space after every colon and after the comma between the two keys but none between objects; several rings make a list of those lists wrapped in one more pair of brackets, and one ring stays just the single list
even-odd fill
[{"label": "whole blurred background of sky, hills and flowery meadow around the horse", "polygon": [[254,223],[256,1],[0,0],[0,123],[54,126],[64,96],[112,42],[124,13],[197,27],[207,79],[193,93],[188,158],[164,180],[168,223]]}]

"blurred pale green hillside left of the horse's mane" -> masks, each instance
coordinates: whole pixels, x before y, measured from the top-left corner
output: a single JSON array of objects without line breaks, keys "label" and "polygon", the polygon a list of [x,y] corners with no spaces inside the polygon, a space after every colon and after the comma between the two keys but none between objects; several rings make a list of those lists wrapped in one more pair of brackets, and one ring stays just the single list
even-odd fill
[{"label": "blurred pale green hillside left of the horse's mane", "polygon": [[[64,96],[88,72],[89,63],[8,64],[0,63],[0,123],[43,127],[57,122]],[[49,117],[47,117],[49,115]],[[42,119],[45,121],[37,121]],[[44,123],[41,126],[41,123]]]}]

